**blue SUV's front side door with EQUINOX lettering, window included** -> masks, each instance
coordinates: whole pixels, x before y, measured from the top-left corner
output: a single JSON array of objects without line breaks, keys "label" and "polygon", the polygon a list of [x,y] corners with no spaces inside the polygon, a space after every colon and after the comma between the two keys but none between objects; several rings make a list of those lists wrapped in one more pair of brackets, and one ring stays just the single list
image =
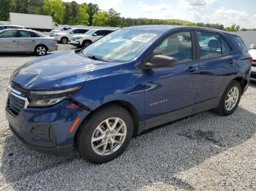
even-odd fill
[{"label": "blue SUV's front side door with EQUINOX lettering, window included", "polygon": [[197,93],[197,78],[192,72],[194,43],[192,32],[182,31],[171,34],[154,49],[153,55],[175,58],[176,66],[145,71],[146,128],[192,113]]}]

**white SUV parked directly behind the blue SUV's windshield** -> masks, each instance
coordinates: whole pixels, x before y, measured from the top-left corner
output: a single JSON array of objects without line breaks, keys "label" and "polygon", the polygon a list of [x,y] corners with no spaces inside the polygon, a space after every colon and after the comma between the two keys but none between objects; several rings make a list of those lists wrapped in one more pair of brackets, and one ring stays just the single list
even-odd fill
[{"label": "white SUV parked directly behind the blue SUV's windshield", "polygon": [[87,47],[91,43],[97,41],[97,39],[100,39],[103,36],[106,36],[112,33],[113,31],[116,31],[116,29],[109,29],[109,28],[92,29],[86,32],[86,34],[73,36],[70,44],[74,45],[75,47]]}]

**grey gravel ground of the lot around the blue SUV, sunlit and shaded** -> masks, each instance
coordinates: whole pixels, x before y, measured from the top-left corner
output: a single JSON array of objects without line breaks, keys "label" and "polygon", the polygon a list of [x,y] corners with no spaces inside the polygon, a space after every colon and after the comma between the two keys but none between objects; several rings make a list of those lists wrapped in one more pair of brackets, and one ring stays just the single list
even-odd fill
[{"label": "grey gravel ground of the lot around the blue SUV, sunlit and shaded", "polygon": [[116,160],[93,165],[27,149],[7,128],[10,75],[33,58],[0,55],[0,190],[256,190],[255,83],[231,116],[203,112],[171,122],[132,139]]}]

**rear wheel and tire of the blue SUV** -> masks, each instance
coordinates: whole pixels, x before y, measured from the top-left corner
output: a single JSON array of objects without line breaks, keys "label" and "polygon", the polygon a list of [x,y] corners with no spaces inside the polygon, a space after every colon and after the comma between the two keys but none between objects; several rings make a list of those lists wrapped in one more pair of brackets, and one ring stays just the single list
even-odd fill
[{"label": "rear wheel and tire of the blue SUV", "polygon": [[242,87],[241,84],[233,80],[227,85],[221,100],[219,101],[219,106],[215,109],[215,112],[220,115],[230,115],[235,112],[236,108],[241,99]]}]

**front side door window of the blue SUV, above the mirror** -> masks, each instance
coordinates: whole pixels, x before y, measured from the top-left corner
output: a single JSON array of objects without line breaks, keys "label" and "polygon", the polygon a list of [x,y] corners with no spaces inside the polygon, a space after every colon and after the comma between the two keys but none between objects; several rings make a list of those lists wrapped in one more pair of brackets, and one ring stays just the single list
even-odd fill
[{"label": "front side door window of the blue SUV, above the mirror", "polygon": [[166,55],[176,63],[192,61],[192,39],[189,31],[168,36],[154,51],[153,55]]}]

